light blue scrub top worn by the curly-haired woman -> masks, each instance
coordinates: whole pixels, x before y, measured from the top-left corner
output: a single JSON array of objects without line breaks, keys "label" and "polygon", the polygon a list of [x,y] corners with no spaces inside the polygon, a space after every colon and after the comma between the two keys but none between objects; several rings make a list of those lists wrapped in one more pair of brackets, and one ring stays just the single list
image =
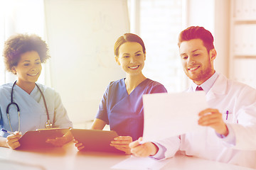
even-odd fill
[{"label": "light blue scrub top worn by the curly-haired woman", "polygon": [[[18,112],[17,108],[12,105],[9,108],[10,122],[6,115],[6,108],[11,102],[11,88],[13,83],[0,86],[0,128],[11,131],[11,128],[18,130]],[[38,84],[43,95],[46,98],[50,122],[54,128],[73,127],[72,122],[68,118],[68,113],[65,110],[60,95],[52,88]],[[14,86],[14,102],[20,108],[20,121],[22,135],[28,130],[36,130],[46,128],[47,113],[44,106],[43,97],[39,89],[35,86],[31,94],[23,91],[19,86]],[[0,132],[0,136],[6,137],[9,135],[6,132]]]}]

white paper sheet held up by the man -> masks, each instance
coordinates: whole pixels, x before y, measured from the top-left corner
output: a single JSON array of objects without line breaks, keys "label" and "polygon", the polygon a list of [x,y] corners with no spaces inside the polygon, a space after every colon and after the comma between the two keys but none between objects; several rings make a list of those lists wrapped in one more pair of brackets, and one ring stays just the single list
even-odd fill
[{"label": "white paper sheet held up by the man", "polygon": [[208,108],[204,91],[145,94],[143,141],[159,140],[202,130],[198,113]]}]

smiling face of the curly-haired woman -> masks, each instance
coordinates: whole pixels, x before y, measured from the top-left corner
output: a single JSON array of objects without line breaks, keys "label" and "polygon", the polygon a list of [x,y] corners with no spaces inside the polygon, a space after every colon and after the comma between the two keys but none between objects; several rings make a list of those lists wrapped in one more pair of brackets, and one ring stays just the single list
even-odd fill
[{"label": "smiling face of the curly-haired woman", "polygon": [[36,51],[23,53],[17,66],[11,69],[14,74],[17,74],[17,83],[19,84],[34,84],[38,80],[41,70],[41,60]]}]

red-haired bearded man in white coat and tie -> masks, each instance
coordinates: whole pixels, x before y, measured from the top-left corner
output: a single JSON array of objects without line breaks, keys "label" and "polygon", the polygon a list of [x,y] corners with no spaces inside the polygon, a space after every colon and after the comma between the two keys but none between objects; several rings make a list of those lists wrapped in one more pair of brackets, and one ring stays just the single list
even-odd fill
[{"label": "red-haired bearded man in white coat and tie", "polygon": [[183,30],[178,47],[183,70],[193,81],[188,91],[206,92],[210,108],[198,113],[198,125],[206,128],[142,145],[140,138],[129,145],[131,152],[156,159],[180,152],[256,169],[256,90],[215,72],[213,35],[205,28]]}]

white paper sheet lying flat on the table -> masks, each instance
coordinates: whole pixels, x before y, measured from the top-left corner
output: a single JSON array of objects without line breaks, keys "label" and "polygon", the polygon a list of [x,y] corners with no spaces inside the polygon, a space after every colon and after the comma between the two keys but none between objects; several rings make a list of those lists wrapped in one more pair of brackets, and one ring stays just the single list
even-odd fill
[{"label": "white paper sheet lying flat on the table", "polygon": [[164,167],[170,159],[158,161],[153,158],[142,158],[131,156],[118,164],[112,166],[112,169],[138,169],[138,170],[159,170]]}]

